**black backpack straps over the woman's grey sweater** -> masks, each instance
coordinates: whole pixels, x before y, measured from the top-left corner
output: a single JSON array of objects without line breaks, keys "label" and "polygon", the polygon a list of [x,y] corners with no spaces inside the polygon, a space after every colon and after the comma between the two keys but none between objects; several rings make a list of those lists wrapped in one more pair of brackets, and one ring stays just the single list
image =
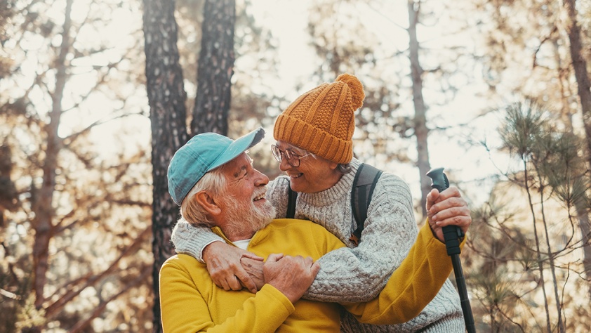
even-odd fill
[{"label": "black backpack straps over the woman's grey sweater", "polygon": [[[361,231],[363,231],[364,223],[367,219],[367,207],[371,202],[373,189],[376,188],[376,183],[378,183],[381,175],[382,171],[380,169],[369,164],[361,163],[353,179],[351,207],[353,208],[353,216],[357,222],[357,229],[353,231],[349,240],[354,242],[356,246],[361,241]],[[297,198],[298,192],[294,192],[291,190],[291,186],[288,186],[286,218],[293,218],[295,216],[295,200]]]}]

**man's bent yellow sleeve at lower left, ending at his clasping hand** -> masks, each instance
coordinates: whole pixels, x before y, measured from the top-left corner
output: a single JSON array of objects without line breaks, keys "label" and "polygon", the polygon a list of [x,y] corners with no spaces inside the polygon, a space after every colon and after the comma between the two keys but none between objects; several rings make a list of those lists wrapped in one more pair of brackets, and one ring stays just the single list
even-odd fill
[{"label": "man's bent yellow sleeve at lower left, ending at his clasping hand", "polygon": [[167,261],[160,270],[160,306],[162,327],[168,333],[274,332],[295,310],[284,294],[265,285],[234,316],[215,325],[190,273],[174,261]]}]

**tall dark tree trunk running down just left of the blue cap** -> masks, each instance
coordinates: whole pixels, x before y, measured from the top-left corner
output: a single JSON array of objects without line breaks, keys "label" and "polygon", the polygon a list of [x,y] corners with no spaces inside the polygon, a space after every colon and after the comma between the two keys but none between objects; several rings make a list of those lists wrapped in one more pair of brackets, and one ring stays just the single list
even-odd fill
[{"label": "tall dark tree trunk running down just left of the blue cap", "polygon": [[168,195],[166,171],[174,152],[187,141],[187,94],[177,48],[175,1],[144,0],[146,88],[152,123],[152,270],[154,332],[161,332],[159,272],[174,254],[171,230],[178,207]]}]

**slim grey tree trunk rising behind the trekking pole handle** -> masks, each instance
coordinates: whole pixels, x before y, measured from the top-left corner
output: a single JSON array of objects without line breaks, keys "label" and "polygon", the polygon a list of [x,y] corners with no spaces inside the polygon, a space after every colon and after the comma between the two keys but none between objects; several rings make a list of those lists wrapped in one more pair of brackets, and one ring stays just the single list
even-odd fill
[{"label": "slim grey tree trunk rising behind the trekking pole handle", "polygon": [[431,182],[426,176],[431,169],[429,164],[429,148],[427,147],[427,138],[429,129],[427,129],[427,112],[425,100],[423,100],[423,68],[418,62],[418,39],[416,36],[416,25],[418,23],[418,13],[420,4],[409,0],[409,37],[410,37],[410,55],[411,75],[413,79],[413,103],[415,107],[414,129],[417,141],[417,166],[420,176],[420,208],[423,211],[423,220],[427,217],[427,193],[431,190]]}]

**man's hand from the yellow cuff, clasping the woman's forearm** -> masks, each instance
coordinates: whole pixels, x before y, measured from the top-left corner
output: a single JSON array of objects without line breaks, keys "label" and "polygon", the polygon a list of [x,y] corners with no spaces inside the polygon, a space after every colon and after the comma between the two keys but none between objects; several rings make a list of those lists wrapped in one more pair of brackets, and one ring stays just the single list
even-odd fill
[{"label": "man's hand from the yellow cuff, clasping the woman's forearm", "polygon": [[263,266],[265,283],[277,288],[291,303],[302,297],[319,270],[320,264],[314,263],[310,256],[304,258],[283,254],[271,254]]}]

